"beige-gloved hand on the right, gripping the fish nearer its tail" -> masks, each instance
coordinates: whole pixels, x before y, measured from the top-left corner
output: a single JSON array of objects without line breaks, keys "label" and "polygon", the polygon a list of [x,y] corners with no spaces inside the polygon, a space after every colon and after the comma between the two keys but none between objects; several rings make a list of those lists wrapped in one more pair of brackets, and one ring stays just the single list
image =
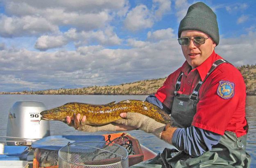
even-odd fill
[{"label": "beige-gloved hand on the right, gripping the fish nearer its tail", "polygon": [[115,123],[133,126],[147,133],[153,133],[159,138],[161,138],[161,133],[165,128],[165,124],[157,122],[154,119],[140,113],[121,113],[120,117],[125,119],[118,119],[115,121]]}]

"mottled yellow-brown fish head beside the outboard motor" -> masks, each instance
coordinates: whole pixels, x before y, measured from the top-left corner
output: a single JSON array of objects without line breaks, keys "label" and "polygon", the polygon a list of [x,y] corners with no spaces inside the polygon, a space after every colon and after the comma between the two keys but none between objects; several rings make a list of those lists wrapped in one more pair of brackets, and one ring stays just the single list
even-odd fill
[{"label": "mottled yellow-brown fish head beside the outboard motor", "polygon": [[72,117],[74,114],[75,104],[67,103],[63,106],[52,108],[50,110],[42,111],[41,119],[44,120],[61,120],[64,121],[66,116]]}]

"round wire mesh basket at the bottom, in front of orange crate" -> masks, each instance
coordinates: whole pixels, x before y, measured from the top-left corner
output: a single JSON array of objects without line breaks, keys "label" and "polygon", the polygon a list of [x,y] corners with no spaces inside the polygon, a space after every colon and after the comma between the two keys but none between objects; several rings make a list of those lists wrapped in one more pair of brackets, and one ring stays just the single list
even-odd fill
[{"label": "round wire mesh basket at the bottom, in front of orange crate", "polygon": [[59,168],[128,168],[128,152],[102,141],[68,143],[59,150]]}]

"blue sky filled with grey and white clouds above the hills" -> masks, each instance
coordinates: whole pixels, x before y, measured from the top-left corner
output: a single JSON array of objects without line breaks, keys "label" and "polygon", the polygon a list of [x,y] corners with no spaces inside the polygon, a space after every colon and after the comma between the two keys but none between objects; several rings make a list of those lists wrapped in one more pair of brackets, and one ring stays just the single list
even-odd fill
[{"label": "blue sky filled with grey and white clouds above the hills", "polygon": [[[185,61],[179,22],[192,0],[0,0],[0,91],[118,85],[167,77]],[[215,52],[256,64],[255,0],[203,0]]]}]

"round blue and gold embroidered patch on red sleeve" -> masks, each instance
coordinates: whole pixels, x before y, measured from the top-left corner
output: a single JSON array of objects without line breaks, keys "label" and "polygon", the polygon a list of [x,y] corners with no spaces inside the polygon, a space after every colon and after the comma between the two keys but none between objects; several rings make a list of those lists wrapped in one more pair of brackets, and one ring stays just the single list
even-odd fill
[{"label": "round blue and gold embroidered patch on red sleeve", "polygon": [[235,84],[229,81],[221,80],[217,87],[217,95],[223,99],[230,99],[235,95]]}]

